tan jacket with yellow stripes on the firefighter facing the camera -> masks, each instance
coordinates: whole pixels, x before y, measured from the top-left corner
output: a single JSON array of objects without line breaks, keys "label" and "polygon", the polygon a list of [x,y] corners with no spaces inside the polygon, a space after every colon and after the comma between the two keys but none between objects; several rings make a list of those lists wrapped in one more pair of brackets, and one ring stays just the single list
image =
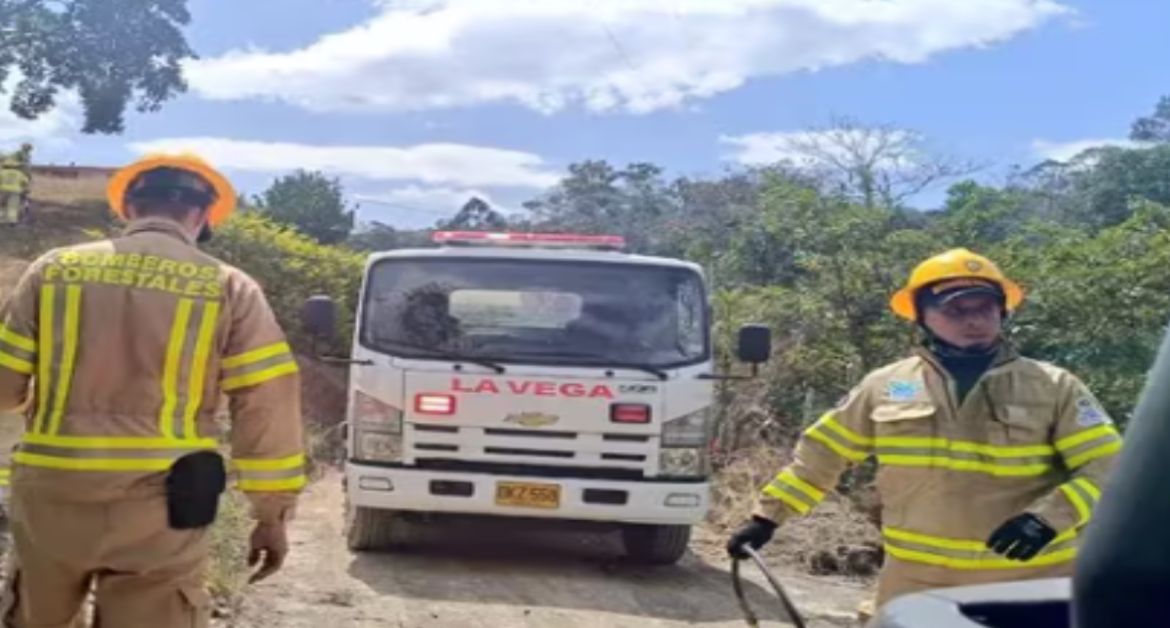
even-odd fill
[{"label": "tan jacket with yellow stripes on the firefighter facing the camera", "polygon": [[[1073,374],[1005,347],[962,406],[932,354],[870,373],[804,432],[756,515],[807,513],[874,456],[886,563],[878,603],[927,588],[1071,573],[1121,436]],[[985,543],[1032,512],[1059,536],[1027,563]]]}]

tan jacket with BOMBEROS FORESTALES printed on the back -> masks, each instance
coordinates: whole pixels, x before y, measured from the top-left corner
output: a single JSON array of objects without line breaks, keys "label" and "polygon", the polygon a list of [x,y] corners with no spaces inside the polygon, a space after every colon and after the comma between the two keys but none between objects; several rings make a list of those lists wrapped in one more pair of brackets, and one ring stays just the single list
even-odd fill
[{"label": "tan jacket with BOMBEROS FORESTALES printed on the back", "polygon": [[236,486],[257,519],[291,515],[305,483],[300,377],[250,277],[199,251],[178,225],[147,219],[122,237],[46,254],[9,297],[0,412],[28,401],[18,491],[161,495],[176,458],[218,447],[226,394]]}]

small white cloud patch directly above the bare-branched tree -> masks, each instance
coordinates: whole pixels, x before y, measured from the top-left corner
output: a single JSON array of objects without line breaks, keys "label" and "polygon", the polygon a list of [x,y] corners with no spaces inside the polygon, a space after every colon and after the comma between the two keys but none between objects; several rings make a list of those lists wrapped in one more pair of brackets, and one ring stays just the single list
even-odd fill
[{"label": "small white cloud patch directly above the bare-branched tree", "polygon": [[794,166],[819,167],[835,159],[848,161],[852,152],[861,156],[882,153],[886,163],[879,165],[897,170],[917,163],[916,147],[921,142],[922,138],[911,131],[881,127],[720,136],[720,143],[731,147],[723,159],[744,166],[789,161]]}]

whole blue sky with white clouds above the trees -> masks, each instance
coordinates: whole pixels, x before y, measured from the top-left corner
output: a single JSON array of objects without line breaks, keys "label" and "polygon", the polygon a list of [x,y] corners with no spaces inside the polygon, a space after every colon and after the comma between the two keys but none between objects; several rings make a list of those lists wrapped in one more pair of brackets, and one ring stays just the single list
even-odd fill
[{"label": "whole blue sky with white clouds above the trees", "polygon": [[[577,160],[716,174],[832,116],[986,163],[1120,142],[1170,92],[1170,2],[190,0],[192,89],[119,137],[67,103],[0,143],[118,165],[194,149],[246,192],[298,166],[404,227],[470,194],[515,209]],[[941,191],[920,198],[935,202]]]}]

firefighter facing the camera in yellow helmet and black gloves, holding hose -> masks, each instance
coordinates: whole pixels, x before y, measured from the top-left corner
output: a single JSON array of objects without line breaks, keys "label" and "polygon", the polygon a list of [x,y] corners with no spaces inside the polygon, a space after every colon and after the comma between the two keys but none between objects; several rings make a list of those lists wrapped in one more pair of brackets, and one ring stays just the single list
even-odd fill
[{"label": "firefighter facing the camera in yellow helmet and black gloves, holding hose", "polygon": [[890,306],[925,332],[801,434],[728,543],[758,548],[874,456],[885,565],[876,605],[922,589],[1067,575],[1121,436],[1068,371],[1003,338],[1024,291],[955,249],[918,265]]}]

